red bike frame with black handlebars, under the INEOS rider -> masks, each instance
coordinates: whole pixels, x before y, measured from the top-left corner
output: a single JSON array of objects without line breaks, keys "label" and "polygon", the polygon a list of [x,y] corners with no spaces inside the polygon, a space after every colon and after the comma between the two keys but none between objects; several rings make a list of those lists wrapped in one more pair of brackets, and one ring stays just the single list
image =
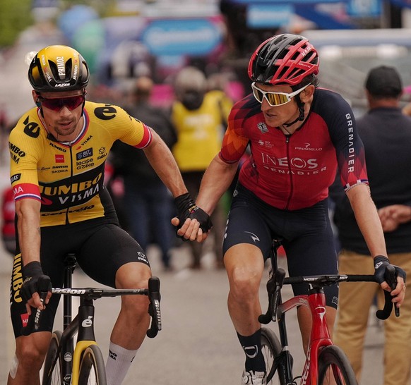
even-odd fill
[{"label": "red bike frame with black handlebars, under the INEOS rider", "polygon": [[[311,314],[311,332],[309,335],[309,343],[306,352],[306,360],[302,370],[301,385],[316,385],[318,382],[318,369],[320,366],[319,358],[323,348],[333,346],[328,330],[326,317],[326,295],[324,294],[324,286],[329,286],[338,282],[375,282],[374,275],[321,275],[321,276],[300,276],[285,278],[285,270],[278,269],[277,250],[280,247],[281,241],[273,240],[273,248],[270,252],[270,278],[267,281],[268,292],[268,310],[266,314],[261,314],[258,321],[261,324],[269,324],[271,321],[278,322],[278,332],[280,335],[280,344],[282,347],[280,355],[275,357],[272,369],[278,369],[279,365],[282,368],[282,376],[285,384],[296,384],[292,373],[292,355],[288,346],[287,328],[285,325],[285,313],[294,307],[304,306]],[[392,282],[391,288],[396,285],[395,267],[391,267],[386,271],[386,281]],[[282,302],[281,289],[284,284],[293,283],[308,283],[309,291],[304,295],[295,295],[289,300]],[[391,294],[384,291],[385,305],[382,310],[376,312],[376,317],[379,319],[387,319],[393,310],[393,302]],[[395,307],[395,315],[399,317],[399,309]],[[338,367],[333,367],[334,377],[342,375]],[[352,374],[354,376],[354,374]],[[297,377],[296,377],[297,378]]]}]

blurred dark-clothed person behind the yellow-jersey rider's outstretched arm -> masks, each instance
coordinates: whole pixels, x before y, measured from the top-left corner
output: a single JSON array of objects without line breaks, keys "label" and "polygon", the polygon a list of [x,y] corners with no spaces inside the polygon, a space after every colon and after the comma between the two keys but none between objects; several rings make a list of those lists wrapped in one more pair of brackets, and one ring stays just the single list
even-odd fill
[{"label": "blurred dark-clothed person behind the yellow-jersey rider's outstretched arm", "polygon": [[[153,128],[169,148],[177,140],[176,133],[166,112],[150,104],[153,80],[141,77],[133,88],[132,103],[127,112]],[[138,240],[147,252],[150,243],[160,247],[162,264],[172,269],[170,249],[174,245],[175,231],[170,222],[174,215],[172,195],[157,173],[150,166],[143,152],[134,151],[129,145],[117,141],[112,148],[114,176],[124,181],[124,199],[121,203],[127,231]]]}]

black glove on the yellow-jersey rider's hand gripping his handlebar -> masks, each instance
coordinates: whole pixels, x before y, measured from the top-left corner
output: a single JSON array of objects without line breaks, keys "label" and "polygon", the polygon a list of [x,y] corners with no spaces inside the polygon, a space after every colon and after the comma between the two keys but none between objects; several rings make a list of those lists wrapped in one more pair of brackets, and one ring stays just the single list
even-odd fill
[{"label": "black glove on the yellow-jersey rider's hand gripping his handlebar", "polygon": [[20,291],[25,302],[30,300],[36,291],[52,291],[52,281],[49,276],[43,274],[40,262],[33,261],[26,264],[23,266],[22,273],[24,281]]}]

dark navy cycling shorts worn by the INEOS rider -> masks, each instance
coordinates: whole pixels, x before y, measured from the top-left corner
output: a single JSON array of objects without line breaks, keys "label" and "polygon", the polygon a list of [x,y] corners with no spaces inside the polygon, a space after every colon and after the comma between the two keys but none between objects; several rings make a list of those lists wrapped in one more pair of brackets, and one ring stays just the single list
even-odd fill
[{"label": "dark navy cycling shorts worn by the INEOS rider", "polygon": [[[222,251],[239,243],[260,248],[264,259],[270,256],[273,239],[282,238],[290,276],[337,274],[338,263],[327,200],[299,210],[270,206],[238,184],[227,219]],[[292,286],[294,295],[308,292],[306,283]],[[328,306],[338,306],[338,285],[324,288]]]}]

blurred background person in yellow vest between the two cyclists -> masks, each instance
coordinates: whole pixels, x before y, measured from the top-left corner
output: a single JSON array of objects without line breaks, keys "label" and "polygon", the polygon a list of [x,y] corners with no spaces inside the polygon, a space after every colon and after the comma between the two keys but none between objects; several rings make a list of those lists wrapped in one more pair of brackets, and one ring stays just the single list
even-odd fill
[{"label": "blurred background person in yellow vest between the two cyclists", "polygon": [[[172,148],[181,176],[191,196],[196,197],[201,178],[210,161],[218,154],[232,103],[222,98],[221,90],[208,91],[203,72],[193,66],[183,68],[174,82],[176,101],[172,122],[177,142]],[[222,236],[225,215],[222,202],[211,216],[214,226],[214,252],[217,267],[222,263]],[[190,242],[193,269],[201,268],[203,245]]]}]

